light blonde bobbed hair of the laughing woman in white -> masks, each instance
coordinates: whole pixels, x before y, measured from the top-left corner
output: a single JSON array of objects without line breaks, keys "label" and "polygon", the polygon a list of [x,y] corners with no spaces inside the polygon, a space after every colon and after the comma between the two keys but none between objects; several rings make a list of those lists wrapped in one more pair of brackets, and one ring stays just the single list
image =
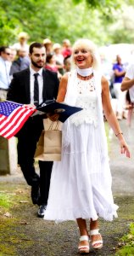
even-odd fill
[{"label": "light blonde bobbed hair of the laughing woman in white", "polygon": [[75,50],[80,48],[87,49],[88,51],[90,51],[93,59],[92,67],[95,70],[98,70],[100,68],[100,55],[98,53],[97,46],[89,39],[84,39],[84,38],[78,39],[77,41],[75,41],[75,44],[72,47],[73,61],[74,61]]}]

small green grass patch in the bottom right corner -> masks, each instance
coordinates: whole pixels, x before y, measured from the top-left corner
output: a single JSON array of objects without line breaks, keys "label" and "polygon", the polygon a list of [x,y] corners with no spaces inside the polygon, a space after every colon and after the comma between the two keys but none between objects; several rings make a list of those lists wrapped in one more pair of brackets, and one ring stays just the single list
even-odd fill
[{"label": "small green grass patch in the bottom right corner", "polygon": [[131,223],[129,233],[120,239],[122,247],[115,253],[115,256],[134,255],[134,223]]}]

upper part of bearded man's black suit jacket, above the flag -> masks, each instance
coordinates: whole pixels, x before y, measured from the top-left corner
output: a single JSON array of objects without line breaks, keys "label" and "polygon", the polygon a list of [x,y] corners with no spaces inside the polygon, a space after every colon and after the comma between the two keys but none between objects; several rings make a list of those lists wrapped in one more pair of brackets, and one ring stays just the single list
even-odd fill
[{"label": "upper part of bearded man's black suit jacket, above the flag", "polygon": [[[59,90],[59,79],[57,73],[53,73],[47,69],[43,69],[43,102],[46,100],[56,99]],[[14,73],[13,79],[8,89],[8,101],[23,104],[31,103],[30,96],[30,69],[27,68],[18,73]]]}]

